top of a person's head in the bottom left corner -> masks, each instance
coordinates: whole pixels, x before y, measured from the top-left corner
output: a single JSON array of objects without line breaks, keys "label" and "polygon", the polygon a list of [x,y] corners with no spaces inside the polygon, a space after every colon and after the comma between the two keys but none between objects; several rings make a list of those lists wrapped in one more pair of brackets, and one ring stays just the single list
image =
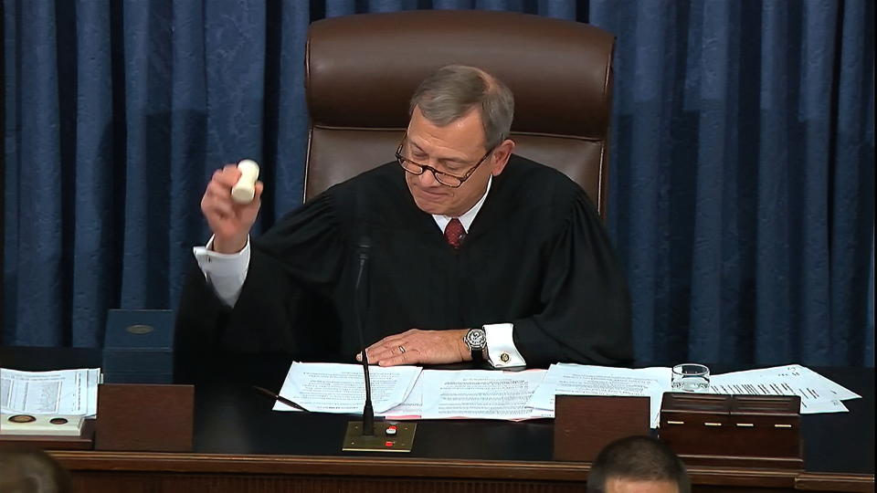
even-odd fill
[{"label": "top of a person's head in the bottom left corner", "polygon": [[71,490],[66,470],[36,448],[0,449],[0,492],[66,493]]}]

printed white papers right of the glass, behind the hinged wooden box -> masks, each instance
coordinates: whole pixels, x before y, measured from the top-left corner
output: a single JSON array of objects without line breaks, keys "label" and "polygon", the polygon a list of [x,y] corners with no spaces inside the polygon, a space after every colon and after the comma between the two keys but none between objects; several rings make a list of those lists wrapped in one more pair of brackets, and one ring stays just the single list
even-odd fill
[{"label": "printed white papers right of the glass, behind the hinged wooden box", "polygon": [[842,402],[856,399],[853,393],[817,372],[798,364],[713,375],[711,393],[748,395],[799,395],[801,414],[845,413]]}]

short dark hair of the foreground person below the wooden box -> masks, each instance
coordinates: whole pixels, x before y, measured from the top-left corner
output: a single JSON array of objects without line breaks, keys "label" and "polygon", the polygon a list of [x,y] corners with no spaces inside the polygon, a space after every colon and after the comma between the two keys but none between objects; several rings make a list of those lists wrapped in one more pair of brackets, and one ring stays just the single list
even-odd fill
[{"label": "short dark hair of the foreground person below the wooden box", "polygon": [[587,493],[603,493],[612,477],[669,481],[676,484],[679,493],[692,490],[682,460],[667,444],[650,436],[628,436],[603,448],[587,475]]}]

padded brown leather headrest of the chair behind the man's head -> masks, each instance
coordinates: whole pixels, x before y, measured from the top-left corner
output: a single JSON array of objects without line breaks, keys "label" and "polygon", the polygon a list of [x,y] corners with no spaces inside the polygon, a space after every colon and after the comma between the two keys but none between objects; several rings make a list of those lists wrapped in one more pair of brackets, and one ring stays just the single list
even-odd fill
[{"label": "padded brown leather headrest of the chair behind the man's head", "polygon": [[511,12],[322,19],[308,36],[308,109],[315,126],[404,128],[421,80],[445,65],[470,65],[512,89],[512,131],[603,140],[614,43],[595,26]]}]

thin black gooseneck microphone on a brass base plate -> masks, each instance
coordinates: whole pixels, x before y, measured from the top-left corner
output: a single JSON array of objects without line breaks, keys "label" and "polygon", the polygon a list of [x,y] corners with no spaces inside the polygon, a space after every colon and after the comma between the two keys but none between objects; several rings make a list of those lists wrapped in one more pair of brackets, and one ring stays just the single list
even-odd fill
[{"label": "thin black gooseneck microphone on a brass base plate", "polygon": [[[347,423],[342,450],[356,452],[410,452],[414,444],[416,423],[396,424],[386,421],[377,423],[375,434],[375,410],[372,407],[372,383],[368,372],[368,353],[365,351],[365,319],[368,312],[368,256],[371,241],[368,236],[359,240],[359,269],[354,287],[356,330],[359,331],[359,346],[362,348],[363,374],[365,376],[365,405],[363,421]],[[365,286],[365,287],[364,287]]]}]

